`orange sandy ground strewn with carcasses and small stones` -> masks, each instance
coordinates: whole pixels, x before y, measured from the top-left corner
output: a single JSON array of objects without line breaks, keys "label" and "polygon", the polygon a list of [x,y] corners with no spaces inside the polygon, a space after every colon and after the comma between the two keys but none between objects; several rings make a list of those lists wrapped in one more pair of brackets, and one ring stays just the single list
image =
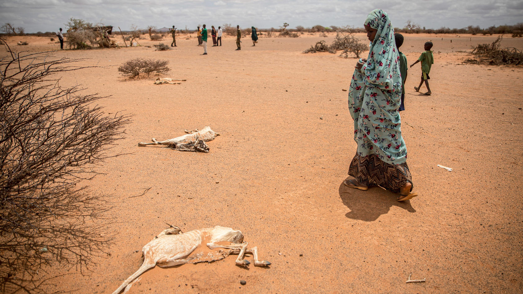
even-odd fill
[{"label": "orange sandy ground strewn with carcasses and small stones", "polygon": [[[168,222],[183,231],[217,224],[239,229],[272,265],[241,268],[228,257],[156,267],[130,293],[523,291],[523,69],[462,63],[470,57],[464,51],[497,36],[405,35],[401,49],[409,64],[427,40],[434,42],[435,64],[431,96],[414,92],[419,65],[408,72],[402,130],[419,196],[402,203],[379,187],[342,184],[356,151],[342,89],[356,59],[302,54],[334,35],[262,36],[256,47],[247,37],[241,51],[233,37],[222,47],[211,47],[209,38],[205,56],[194,34],[184,37],[167,52],[140,40],[143,47],[54,53],[105,66],[66,74],[61,85],[111,95],[100,100],[107,112],[134,115],[115,150],[131,154],[107,161],[100,168],[106,175],[90,184],[117,203],[111,256],[95,258],[89,275],[72,268],[72,275],[54,280],[54,290],[112,292],[141,265],[135,250]],[[16,46],[19,40],[29,45]],[[8,43],[17,50],[59,48],[44,37]],[[521,50],[523,39],[505,37],[502,46]],[[187,82],[154,85],[155,78],[119,75],[118,65],[137,57],[167,59],[172,71],[162,77]],[[137,146],[204,126],[222,134],[208,143],[208,154]],[[427,282],[405,284],[410,273]]]}]

